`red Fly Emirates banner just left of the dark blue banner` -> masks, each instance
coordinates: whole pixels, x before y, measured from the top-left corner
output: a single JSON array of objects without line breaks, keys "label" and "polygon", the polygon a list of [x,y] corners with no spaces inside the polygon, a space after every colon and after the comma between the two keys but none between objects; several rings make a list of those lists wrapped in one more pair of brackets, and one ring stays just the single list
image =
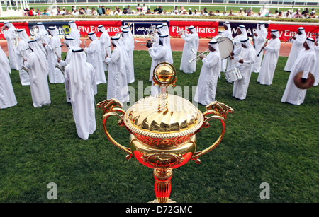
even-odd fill
[{"label": "red Fly Emirates banner just left of the dark blue banner", "polygon": [[121,21],[75,21],[81,37],[87,36],[88,33],[94,32],[97,37],[100,37],[101,33],[98,30],[99,25],[103,25],[108,32],[108,35],[113,36],[118,32],[121,32]]}]

